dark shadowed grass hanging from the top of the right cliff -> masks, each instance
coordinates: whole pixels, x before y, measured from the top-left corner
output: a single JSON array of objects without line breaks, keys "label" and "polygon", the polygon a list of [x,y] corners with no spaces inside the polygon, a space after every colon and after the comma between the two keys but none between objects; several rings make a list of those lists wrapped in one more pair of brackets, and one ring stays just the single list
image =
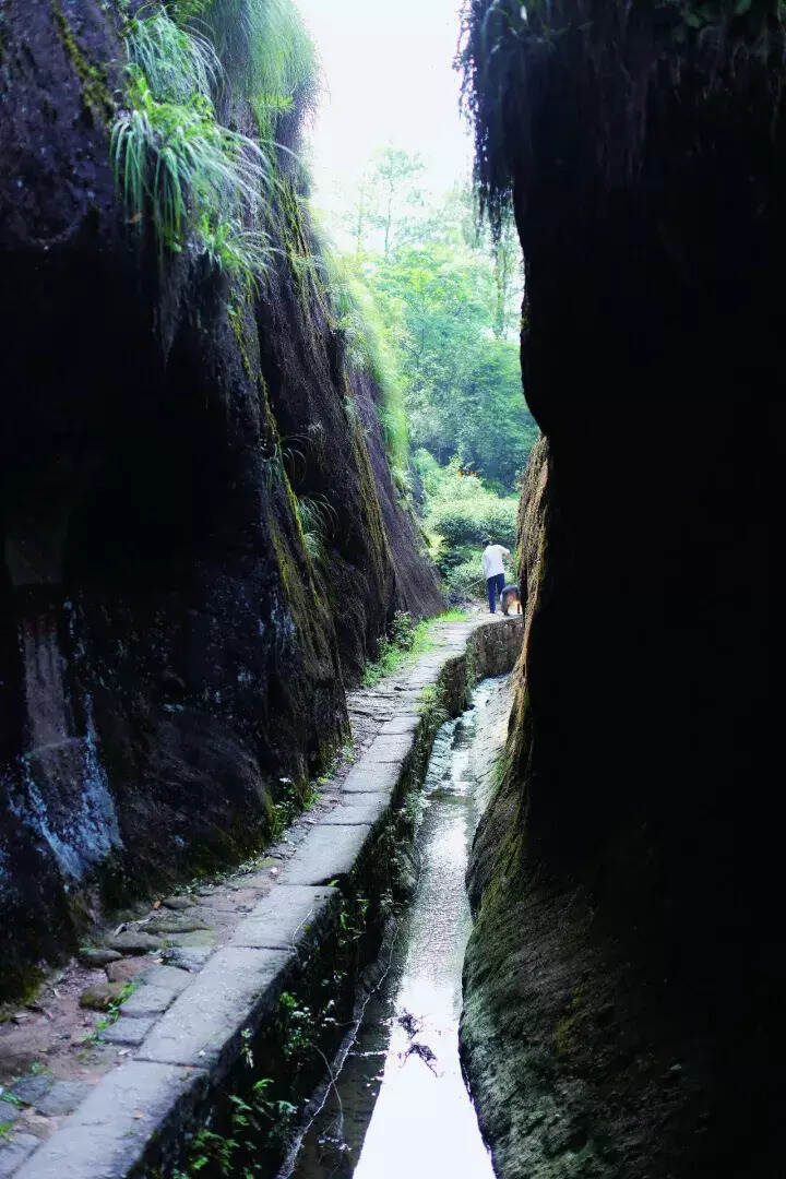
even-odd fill
[{"label": "dark shadowed grass hanging from the top of the right cliff", "polygon": [[[533,150],[549,75],[563,70],[566,86],[583,83],[583,111],[595,127],[594,159],[609,187],[641,164],[653,84],[678,101],[695,71],[722,118],[729,100],[749,101],[751,86],[781,105],[786,58],[784,0],[465,0],[458,66],[462,104],[475,136],[480,210],[498,236],[510,209],[513,177]],[[559,46],[559,54],[555,50]],[[609,78],[619,85],[609,88]],[[660,79],[660,81],[659,81]],[[668,87],[663,80],[668,79]],[[566,162],[562,162],[564,167]]]}]

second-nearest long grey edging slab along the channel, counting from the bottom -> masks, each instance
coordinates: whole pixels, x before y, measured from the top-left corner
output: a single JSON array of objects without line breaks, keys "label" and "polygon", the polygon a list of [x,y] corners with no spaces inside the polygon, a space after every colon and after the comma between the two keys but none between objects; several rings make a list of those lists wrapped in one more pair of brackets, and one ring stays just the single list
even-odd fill
[{"label": "second-nearest long grey edging slab along the channel, counting from the bottom", "polygon": [[275,1009],[295,955],[227,946],[150,1033],[137,1059],[209,1068],[219,1080],[239,1055],[240,1029],[252,1033]]}]

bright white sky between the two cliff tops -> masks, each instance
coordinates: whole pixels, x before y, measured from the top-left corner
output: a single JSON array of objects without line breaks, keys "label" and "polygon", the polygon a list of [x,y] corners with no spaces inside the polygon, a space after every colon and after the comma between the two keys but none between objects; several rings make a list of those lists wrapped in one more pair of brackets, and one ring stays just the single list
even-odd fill
[{"label": "bright white sky between the two cliff tops", "polygon": [[313,33],[323,94],[311,160],[317,204],[354,186],[375,147],[421,152],[447,191],[469,171],[453,68],[461,0],[296,0]]}]

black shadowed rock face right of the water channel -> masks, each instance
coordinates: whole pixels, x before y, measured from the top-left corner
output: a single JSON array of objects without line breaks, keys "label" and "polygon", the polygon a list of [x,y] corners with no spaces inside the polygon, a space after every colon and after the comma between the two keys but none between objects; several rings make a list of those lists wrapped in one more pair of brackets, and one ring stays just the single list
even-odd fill
[{"label": "black shadowed rock face right of the water channel", "polygon": [[509,47],[482,164],[491,195],[513,185],[548,452],[522,505],[510,771],[470,880],[464,1058],[502,1179],[774,1177],[782,40],[757,57],[734,24],[679,48],[663,6],[557,7],[556,47],[535,19],[526,60]]}]

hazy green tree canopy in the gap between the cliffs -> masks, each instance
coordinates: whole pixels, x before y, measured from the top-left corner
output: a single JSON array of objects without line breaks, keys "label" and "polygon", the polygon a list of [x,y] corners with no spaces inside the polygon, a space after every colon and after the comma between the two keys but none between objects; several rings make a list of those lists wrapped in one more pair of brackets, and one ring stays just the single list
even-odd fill
[{"label": "hazy green tree canopy in the gap between the cliffs", "polygon": [[427,203],[421,167],[401,149],[375,153],[346,213],[345,261],[376,299],[412,449],[513,490],[537,437],[521,388],[515,231],[480,235],[468,187]]}]

